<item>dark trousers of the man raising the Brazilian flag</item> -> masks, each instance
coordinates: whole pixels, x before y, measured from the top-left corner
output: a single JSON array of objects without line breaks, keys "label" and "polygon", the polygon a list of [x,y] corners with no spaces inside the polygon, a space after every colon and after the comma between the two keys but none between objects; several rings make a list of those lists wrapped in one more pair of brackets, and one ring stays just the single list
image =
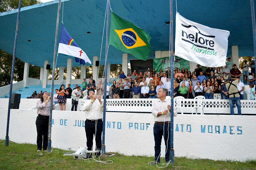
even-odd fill
[{"label": "dark trousers of the man raising the Brazilian flag", "polygon": [[[96,126],[97,124],[97,126]],[[93,146],[93,136],[95,136],[96,150],[101,150],[102,140],[102,119],[96,120],[95,122],[90,122],[90,120],[85,120],[85,133],[86,133],[86,145],[88,150],[92,150]],[[96,126],[96,127],[95,127]]]}]

